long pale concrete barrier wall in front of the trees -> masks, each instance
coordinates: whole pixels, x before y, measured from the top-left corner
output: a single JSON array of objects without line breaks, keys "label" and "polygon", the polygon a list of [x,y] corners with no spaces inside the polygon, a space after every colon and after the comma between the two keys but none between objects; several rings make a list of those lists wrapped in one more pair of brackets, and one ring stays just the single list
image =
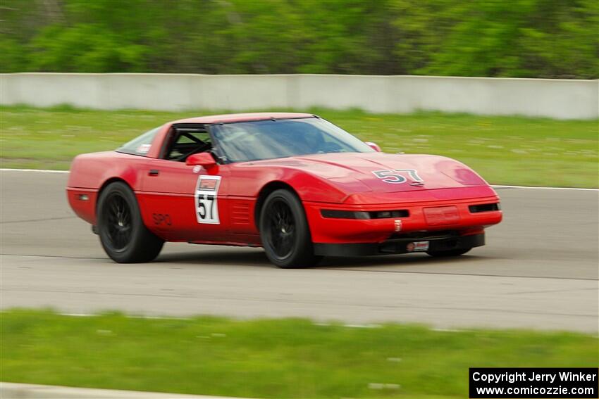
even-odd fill
[{"label": "long pale concrete barrier wall in front of the trees", "polygon": [[599,117],[598,80],[362,75],[0,74],[0,104],[96,109],[438,110],[557,119]]}]

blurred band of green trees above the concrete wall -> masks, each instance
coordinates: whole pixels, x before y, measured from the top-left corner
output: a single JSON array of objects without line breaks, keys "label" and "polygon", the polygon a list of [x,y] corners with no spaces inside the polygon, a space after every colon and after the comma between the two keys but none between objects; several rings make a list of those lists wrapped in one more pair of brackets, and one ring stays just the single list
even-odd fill
[{"label": "blurred band of green trees above the concrete wall", "polygon": [[597,0],[3,0],[0,71],[599,77]]}]

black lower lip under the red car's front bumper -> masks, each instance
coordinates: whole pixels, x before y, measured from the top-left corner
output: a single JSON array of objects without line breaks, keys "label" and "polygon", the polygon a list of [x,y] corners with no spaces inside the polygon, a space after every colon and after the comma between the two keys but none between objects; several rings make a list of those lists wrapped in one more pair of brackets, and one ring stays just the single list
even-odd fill
[{"label": "black lower lip under the red car's front bumper", "polygon": [[323,256],[368,256],[368,255],[393,255],[411,253],[408,244],[418,241],[428,241],[428,251],[451,251],[455,249],[468,249],[485,245],[485,234],[459,236],[456,234],[443,234],[435,236],[405,237],[389,239],[382,243],[315,243],[314,253]]}]

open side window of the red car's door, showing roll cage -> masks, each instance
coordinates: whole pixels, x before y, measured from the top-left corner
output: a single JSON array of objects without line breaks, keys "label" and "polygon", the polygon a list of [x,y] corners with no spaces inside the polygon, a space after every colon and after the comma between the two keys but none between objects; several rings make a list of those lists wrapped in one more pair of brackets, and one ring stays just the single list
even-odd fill
[{"label": "open side window of the red car's door, showing roll cage", "polygon": [[185,162],[194,153],[210,151],[212,142],[210,134],[201,127],[173,127],[171,143],[168,145],[164,158]]}]

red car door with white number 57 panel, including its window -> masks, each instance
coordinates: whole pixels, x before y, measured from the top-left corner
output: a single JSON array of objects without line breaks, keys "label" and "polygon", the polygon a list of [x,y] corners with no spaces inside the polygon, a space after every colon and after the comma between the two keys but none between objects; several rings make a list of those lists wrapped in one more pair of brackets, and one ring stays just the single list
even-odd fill
[{"label": "red car door with white number 57 panel, including its window", "polygon": [[202,127],[175,128],[171,135],[164,158],[149,158],[144,167],[144,222],[168,241],[228,241],[228,166],[185,165],[190,137],[209,143]]}]

